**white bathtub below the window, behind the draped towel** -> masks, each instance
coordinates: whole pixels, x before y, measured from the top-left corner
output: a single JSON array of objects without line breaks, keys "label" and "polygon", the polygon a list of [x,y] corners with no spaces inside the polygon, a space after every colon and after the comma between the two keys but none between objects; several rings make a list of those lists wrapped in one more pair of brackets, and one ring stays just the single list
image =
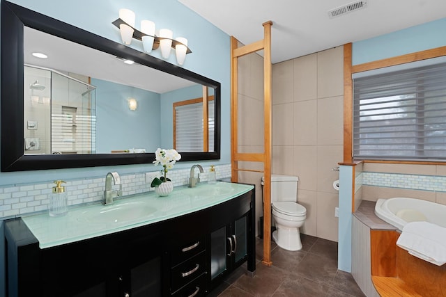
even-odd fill
[{"label": "white bathtub below the window, behind the draped towel", "polygon": [[401,231],[406,223],[420,220],[446,227],[446,205],[420,199],[378,199],[375,214]]}]

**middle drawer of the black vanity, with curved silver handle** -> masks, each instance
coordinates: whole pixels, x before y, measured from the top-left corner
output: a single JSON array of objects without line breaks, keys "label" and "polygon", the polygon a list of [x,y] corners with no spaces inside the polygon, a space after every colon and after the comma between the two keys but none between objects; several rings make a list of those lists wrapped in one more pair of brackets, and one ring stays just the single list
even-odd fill
[{"label": "middle drawer of the black vanity, with curved silver handle", "polygon": [[206,252],[203,251],[199,255],[171,268],[171,290],[180,289],[187,282],[194,280],[204,272],[206,272]]}]

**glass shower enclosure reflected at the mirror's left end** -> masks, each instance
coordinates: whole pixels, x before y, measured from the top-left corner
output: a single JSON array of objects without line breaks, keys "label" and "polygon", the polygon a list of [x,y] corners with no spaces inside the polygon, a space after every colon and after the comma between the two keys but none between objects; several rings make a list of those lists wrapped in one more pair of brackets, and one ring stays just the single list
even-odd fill
[{"label": "glass shower enclosure reflected at the mirror's left end", "polygon": [[94,154],[96,93],[89,77],[24,67],[24,154]]}]

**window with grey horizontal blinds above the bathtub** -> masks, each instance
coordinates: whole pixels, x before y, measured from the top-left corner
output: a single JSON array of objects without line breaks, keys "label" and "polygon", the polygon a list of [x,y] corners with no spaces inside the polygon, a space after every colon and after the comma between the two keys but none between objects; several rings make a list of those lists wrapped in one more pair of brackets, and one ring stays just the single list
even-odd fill
[{"label": "window with grey horizontal blinds above the bathtub", "polygon": [[446,62],[353,74],[355,159],[446,160]]}]

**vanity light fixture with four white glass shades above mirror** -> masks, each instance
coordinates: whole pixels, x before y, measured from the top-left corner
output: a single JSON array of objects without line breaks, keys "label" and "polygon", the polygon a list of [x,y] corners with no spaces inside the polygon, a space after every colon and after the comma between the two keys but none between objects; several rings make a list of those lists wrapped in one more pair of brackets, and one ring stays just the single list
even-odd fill
[{"label": "vanity light fixture with four white glass shades above mirror", "polygon": [[119,18],[112,24],[118,27],[124,45],[130,45],[132,38],[141,40],[144,51],[150,53],[153,49],[161,47],[162,58],[169,58],[171,49],[176,50],[176,61],[183,65],[186,55],[192,53],[187,47],[187,39],[178,37],[173,39],[174,33],[169,29],[160,29],[160,36],[155,35],[155,23],[144,19],[141,21],[141,31],[134,28],[135,15],[132,10],[119,10]]}]

